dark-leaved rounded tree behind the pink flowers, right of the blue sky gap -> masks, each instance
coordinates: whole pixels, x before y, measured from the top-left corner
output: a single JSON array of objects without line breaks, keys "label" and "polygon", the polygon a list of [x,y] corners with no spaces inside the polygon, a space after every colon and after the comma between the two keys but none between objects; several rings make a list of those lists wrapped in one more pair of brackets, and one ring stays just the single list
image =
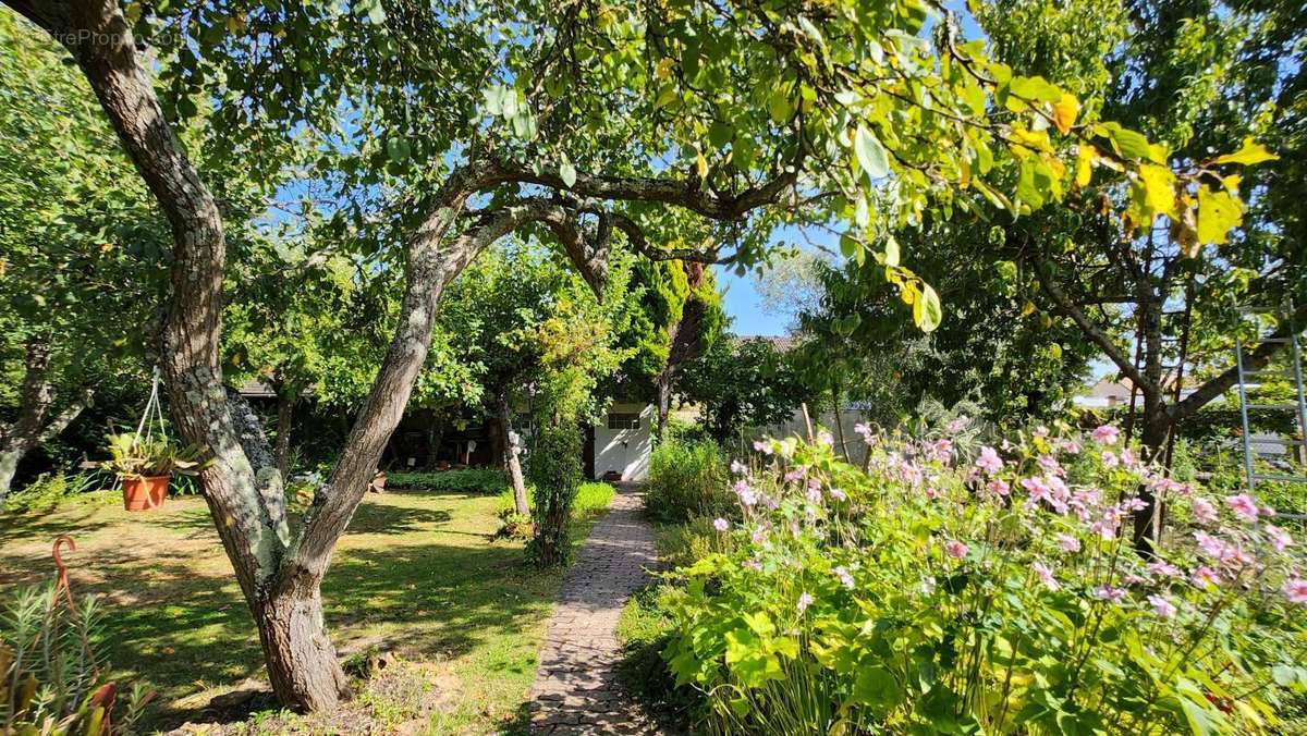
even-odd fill
[{"label": "dark-leaved rounded tree behind the pink flowers, right of the blue sky gap", "polygon": [[818,265],[821,301],[800,314],[796,361],[805,379],[823,395],[863,400],[885,424],[927,399],[972,400],[988,420],[1018,424],[1069,403],[1097,346],[1073,324],[1033,314],[1012,264],[958,258],[984,251],[989,238],[985,227],[953,220],[898,233],[903,258],[946,305],[929,335],[885,288],[881,265]]}]

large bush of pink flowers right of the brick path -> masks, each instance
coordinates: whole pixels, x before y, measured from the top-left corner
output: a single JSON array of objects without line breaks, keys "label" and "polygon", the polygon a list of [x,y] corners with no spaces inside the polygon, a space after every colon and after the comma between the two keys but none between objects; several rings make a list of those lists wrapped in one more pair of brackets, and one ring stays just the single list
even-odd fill
[{"label": "large bush of pink flowers right of the brick path", "polygon": [[[1255,499],[1165,477],[1111,426],[962,429],[859,427],[865,469],[825,438],[757,444],[729,552],[667,603],[706,729],[1246,733],[1307,692],[1300,548]],[[1167,520],[1151,557],[1141,489]]]}]

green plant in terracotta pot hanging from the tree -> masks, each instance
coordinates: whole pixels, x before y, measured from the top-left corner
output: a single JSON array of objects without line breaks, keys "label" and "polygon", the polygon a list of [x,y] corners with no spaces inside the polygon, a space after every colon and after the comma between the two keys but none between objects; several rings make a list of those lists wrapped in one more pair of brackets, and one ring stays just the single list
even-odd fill
[{"label": "green plant in terracotta pot hanging from the tree", "polygon": [[101,467],[122,481],[123,507],[128,511],[163,506],[173,473],[193,473],[204,454],[195,446],[180,447],[162,434],[142,438],[135,431],[111,433],[106,439],[110,459]]}]

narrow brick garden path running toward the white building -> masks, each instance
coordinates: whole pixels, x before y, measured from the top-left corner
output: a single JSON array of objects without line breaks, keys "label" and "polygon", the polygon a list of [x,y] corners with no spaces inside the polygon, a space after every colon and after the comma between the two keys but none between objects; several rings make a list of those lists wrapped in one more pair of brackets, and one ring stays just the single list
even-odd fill
[{"label": "narrow brick garden path running toward the white building", "polygon": [[657,560],[643,499],[620,486],[563,578],[531,689],[532,733],[656,733],[617,681],[617,620]]}]

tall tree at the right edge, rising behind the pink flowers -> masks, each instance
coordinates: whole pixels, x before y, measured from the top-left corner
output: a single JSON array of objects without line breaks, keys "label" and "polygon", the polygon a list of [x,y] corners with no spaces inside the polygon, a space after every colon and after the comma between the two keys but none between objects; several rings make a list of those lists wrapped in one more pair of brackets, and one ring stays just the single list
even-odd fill
[{"label": "tall tree at the right edge, rising behind the pink flowers", "polygon": [[[1006,58],[1102,90],[1104,114],[1208,182],[1195,192],[1162,169],[1141,171],[1129,187],[1086,176],[1070,208],[1004,225],[991,256],[1019,269],[1031,309],[1038,302],[1074,324],[1129,379],[1140,404],[1137,426],[1132,416],[1127,427],[1150,458],[1162,458],[1176,426],[1234,386],[1235,336],[1249,346],[1246,370],[1261,370],[1307,318],[1303,182],[1294,178],[1307,145],[1303,47],[1293,41],[1307,31],[1299,10],[1004,0],[980,13]],[[1063,44],[1090,16],[1102,41]],[[1247,209],[1235,203],[1240,192]],[[1197,217],[1178,209],[1195,196],[1205,203]],[[1230,225],[1239,227],[1226,234]],[[1208,227],[1223,233],[1210,238]],[[1269,314],[1251,322],[1240,306]],[[1138,543],[1158,539],[1161,523],[1151,506],[1141,511]]]}]

